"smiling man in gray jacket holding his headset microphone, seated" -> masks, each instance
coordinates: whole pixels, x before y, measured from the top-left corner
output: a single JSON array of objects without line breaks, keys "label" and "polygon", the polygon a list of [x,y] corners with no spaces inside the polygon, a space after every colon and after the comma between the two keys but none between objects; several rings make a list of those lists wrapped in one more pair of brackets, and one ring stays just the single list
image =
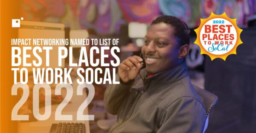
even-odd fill
[{"label": "smiling man in gray jacket holding his headset microphone, seated", "polygon": [[105,91],[105,109],[117,114],[110,132],[203,132],[207,112],[190,82],[188,52],[187,25],[176,17],[157,17],[145,36],[143,58],[125,59],[116,76],[120,84]]}]

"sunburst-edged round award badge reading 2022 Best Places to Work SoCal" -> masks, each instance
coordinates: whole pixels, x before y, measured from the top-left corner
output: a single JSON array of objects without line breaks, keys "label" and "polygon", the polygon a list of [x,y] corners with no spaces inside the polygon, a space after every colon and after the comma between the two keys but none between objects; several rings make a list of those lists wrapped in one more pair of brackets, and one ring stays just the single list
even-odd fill
[{"label": "sunburst-edged round award badge reading 2022 Best Places to Work SoCal", "polygon": [[201,19],[195,32],[194,43],[200,47],[201,54],[209,55],[211,60],[222,58],[225,61],[228,55],[236,54],[236,48],[243,43],[240,39],[242,29],[236,25],[236,19],[230,19],[225,12],[221,15],[211,13],[208,18]]}]

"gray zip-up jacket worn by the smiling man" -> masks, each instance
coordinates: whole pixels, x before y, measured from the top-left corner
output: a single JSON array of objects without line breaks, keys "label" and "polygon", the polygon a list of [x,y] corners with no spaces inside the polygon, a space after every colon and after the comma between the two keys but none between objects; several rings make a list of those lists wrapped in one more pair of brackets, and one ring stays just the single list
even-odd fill
[{"label": "gray zip-up jacket worn by the smiling man", "polygon": [[150,78],[142,69],[129,85],[109,85],[104,104],[117,114],[110,133],[202,133],[207,114],[185,62]]}]

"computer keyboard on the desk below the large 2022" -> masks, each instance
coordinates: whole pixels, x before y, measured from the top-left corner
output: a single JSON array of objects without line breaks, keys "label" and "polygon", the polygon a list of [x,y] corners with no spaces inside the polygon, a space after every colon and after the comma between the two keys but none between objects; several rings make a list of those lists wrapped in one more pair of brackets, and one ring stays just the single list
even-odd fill
[{"label": "computer keyboard on the desk below the large 2022", "polygon": [[50,133],[85,133],[83,123],[58,123],[52,124]]}]

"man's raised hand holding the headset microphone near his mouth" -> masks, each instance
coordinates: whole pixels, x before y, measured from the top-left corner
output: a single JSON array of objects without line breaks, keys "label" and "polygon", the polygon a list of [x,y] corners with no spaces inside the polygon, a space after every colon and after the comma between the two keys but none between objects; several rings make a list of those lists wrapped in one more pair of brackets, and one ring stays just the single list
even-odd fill
[{"label": "man's raised hand holding the headset microphone near his mouth", "polygon": [[131,56],[125,59],[121,64],[118,66],[118,74],[120,79],[127,83],[130,80],[135,79],[139,73],[140,69],[143,66],[140,62],[143,61],[142,58],[139,56]]}]

